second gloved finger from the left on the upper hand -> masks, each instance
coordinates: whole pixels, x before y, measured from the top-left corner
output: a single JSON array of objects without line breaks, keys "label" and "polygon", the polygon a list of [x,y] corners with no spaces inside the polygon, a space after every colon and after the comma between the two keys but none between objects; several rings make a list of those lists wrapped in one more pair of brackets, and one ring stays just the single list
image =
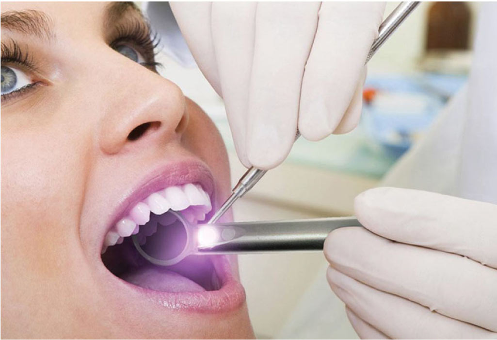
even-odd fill
[{"label": "second gloved finger from the left on the upper hand", "polygon": [[251,165],[247,157],[246,129],[255,9],[256,2],[214,2],[211,13],[223,100],[235,149],[246,167]]}]

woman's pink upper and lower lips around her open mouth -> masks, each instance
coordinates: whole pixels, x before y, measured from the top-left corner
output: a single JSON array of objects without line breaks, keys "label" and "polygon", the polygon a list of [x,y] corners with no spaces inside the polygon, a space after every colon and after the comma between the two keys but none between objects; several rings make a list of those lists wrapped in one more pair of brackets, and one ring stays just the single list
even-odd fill
[{"label": "woman's pink upper and lower lips around her open mouth", "polygon": [[[148,197],[153,192],[163,188],[185,183],[199,183],[211,197],[213,210],[216,209],[215,187],[212,173],[207,166],[196,160],[186,160],[157,167],[144,179],[128,190],[116,211],[111,215],[102,230],[100,246],[107,231],[119,218],[126,215],[136,203]],[[98,251],[98,254],[100,252]],[[205,255],[209,256],[209,255]],[[105,281],[112,287],[111,291],[122,300],[132,299],[135,303],[152,302],[160,308],[185,310],[203,313],[221,313],[240,308],[245,303],[245,289],[234,277],[228,256],[209,256],[214,264],[217,275],[221,280],[221,289],[200,293],[167,293],[142,288],[114,276],[100,262],[100,270]],[[115,289],[114,289],[115,288]],[[136,300],[135,300],[136,299]]]}]

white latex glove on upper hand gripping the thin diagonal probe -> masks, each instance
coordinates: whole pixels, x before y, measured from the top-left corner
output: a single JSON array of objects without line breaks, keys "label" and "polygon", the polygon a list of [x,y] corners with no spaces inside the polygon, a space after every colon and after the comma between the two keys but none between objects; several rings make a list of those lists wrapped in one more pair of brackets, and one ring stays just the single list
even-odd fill
[{"label": "white latex glove on upper hand gripping the thin diagonal probe", "polygon": [[364,62],[383,2],[173,2],[203,74],[224,99],[242,163],[280,164],[359,121]]}]

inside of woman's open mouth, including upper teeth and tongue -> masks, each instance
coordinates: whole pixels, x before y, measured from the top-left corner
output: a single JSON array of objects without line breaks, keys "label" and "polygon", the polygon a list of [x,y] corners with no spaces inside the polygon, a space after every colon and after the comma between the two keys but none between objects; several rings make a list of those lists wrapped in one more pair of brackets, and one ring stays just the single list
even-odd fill
[{"label": "inside of woman's open mouth, including upper teeth and tongue", "polygon": [[[211,198],[198,183],[168,186],[136,203],[106,233],[102,261],[115,276],[133,285],[159,292],[205,292],[222,288],[223,273],[216,270],[216,256],[190,255],[172,266],[159,266],[145,259],[133,244],[133,235],[146,248],[168,235],[178,242],[167,242],[166,249],[180,252],[184,246],[181,230],[170,211],[180,212],[191,224],[207,220],[212,210]],[[207,217],[206,217],[207,216]],[[179,231],[178,231],[179,230]],[[172,237],[171,236],[171,237]],[[217,265],[219,267],[219,265]]]}]

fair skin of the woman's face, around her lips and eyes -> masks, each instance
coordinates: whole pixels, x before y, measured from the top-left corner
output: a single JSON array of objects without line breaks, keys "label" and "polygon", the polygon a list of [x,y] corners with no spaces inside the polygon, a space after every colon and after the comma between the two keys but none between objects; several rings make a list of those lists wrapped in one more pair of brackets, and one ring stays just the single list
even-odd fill
[{"label": "fair skin of the woman's face, around her lips and eyes", "polygon": [[45,12],[55,39],[1,31],[2,41],[29,46],[42,82],[1,107],[1,337],[252,338],[245,303],[224,314],[137,309],[97,273],[101,239],[87,230],[146,169],[200,159],[218,201],[230,189],[212,121],[175,84],[108,46],[106,5],[2,2],[2,13]]}]

